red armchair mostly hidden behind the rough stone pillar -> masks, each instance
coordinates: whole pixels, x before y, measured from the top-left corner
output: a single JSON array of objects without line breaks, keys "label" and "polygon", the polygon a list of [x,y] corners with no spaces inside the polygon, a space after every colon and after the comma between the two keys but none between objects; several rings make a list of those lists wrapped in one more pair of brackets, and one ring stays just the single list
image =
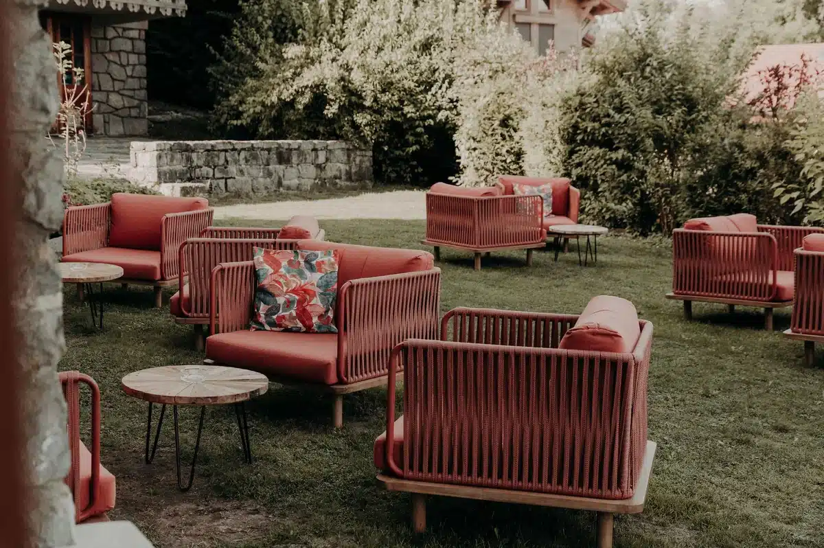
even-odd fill
[{"label": "red armchair mostly hidden behind the rough stone pillar", "polygon": [[[101,465],[101,393],[91,377],[77,371],[59,373],[68,406],[68,445],[72,467],[66,485],[74,496],[75,521],[105,521],[115,508],[115,476]],[[91,452],[80,439],[80,385],[91,389]]]}]

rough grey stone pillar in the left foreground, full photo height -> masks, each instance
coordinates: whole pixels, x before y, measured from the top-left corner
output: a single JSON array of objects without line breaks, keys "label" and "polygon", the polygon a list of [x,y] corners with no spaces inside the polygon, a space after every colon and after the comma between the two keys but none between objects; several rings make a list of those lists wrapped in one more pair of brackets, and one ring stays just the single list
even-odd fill
[{"label": "rough grey stone pillar in the left foreground, full photo height", "polygon": [[12,305],[18,324],[21,354],[20,400],[22,430],[26,433],[26,491],[29,527],[34,546],[73,543],[74,506],[63,479],[70,457],[66,437],[66,409],[57,377],[63,354],[63,294],[54,252],[47,245],[50,232],[60,227],[63,205],[63,166],[45,146],[44,135],[58,110],[51,40],[40,28],[38,7],[44,0],[12,2],[11,100],[14,124],[9,138],[11,157],[21,174],[22,194],[17,208],[17,288]]}]

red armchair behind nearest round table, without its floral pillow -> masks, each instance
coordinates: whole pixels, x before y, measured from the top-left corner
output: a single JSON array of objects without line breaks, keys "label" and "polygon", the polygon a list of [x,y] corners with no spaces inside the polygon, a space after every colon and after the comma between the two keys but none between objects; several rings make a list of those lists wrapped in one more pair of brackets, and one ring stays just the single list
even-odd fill
[{"label": "red armchair behind nearest round table, without its floral pillow", "polygon": [[407,337],[438,335],[441,270],[425,251],[301,240],[297,249],[339,251],[338,333],[251,331],[252,261],[212,273],[207,363],[265,373],[278,382],[320,387],[335,396],[333,422],[343,426],[343,396],[386,385],[392,348]]}]

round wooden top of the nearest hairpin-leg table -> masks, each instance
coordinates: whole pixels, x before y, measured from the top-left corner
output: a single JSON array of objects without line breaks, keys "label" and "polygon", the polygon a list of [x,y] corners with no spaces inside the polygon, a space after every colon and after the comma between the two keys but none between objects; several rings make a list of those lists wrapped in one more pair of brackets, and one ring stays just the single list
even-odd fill
[{"label": "round wooden top of the nearest hairpin-leg table", "polygon": [[170,405],[224,405],[269,390],[262,373],[222,365],[171,365],[129,373],[121,382],[129,396]]}]

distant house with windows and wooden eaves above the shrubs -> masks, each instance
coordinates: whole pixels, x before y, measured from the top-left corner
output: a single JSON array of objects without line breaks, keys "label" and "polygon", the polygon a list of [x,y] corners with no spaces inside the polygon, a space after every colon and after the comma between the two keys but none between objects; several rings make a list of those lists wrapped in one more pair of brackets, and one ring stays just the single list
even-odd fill
[{"label": "distant house with windows and wooden eaves above the shrubs", "polygon": [[595,43],[596,17],[623,12],[627,0],[498,0],[501,20],[545,54],[552,40],[559,53]]}]

